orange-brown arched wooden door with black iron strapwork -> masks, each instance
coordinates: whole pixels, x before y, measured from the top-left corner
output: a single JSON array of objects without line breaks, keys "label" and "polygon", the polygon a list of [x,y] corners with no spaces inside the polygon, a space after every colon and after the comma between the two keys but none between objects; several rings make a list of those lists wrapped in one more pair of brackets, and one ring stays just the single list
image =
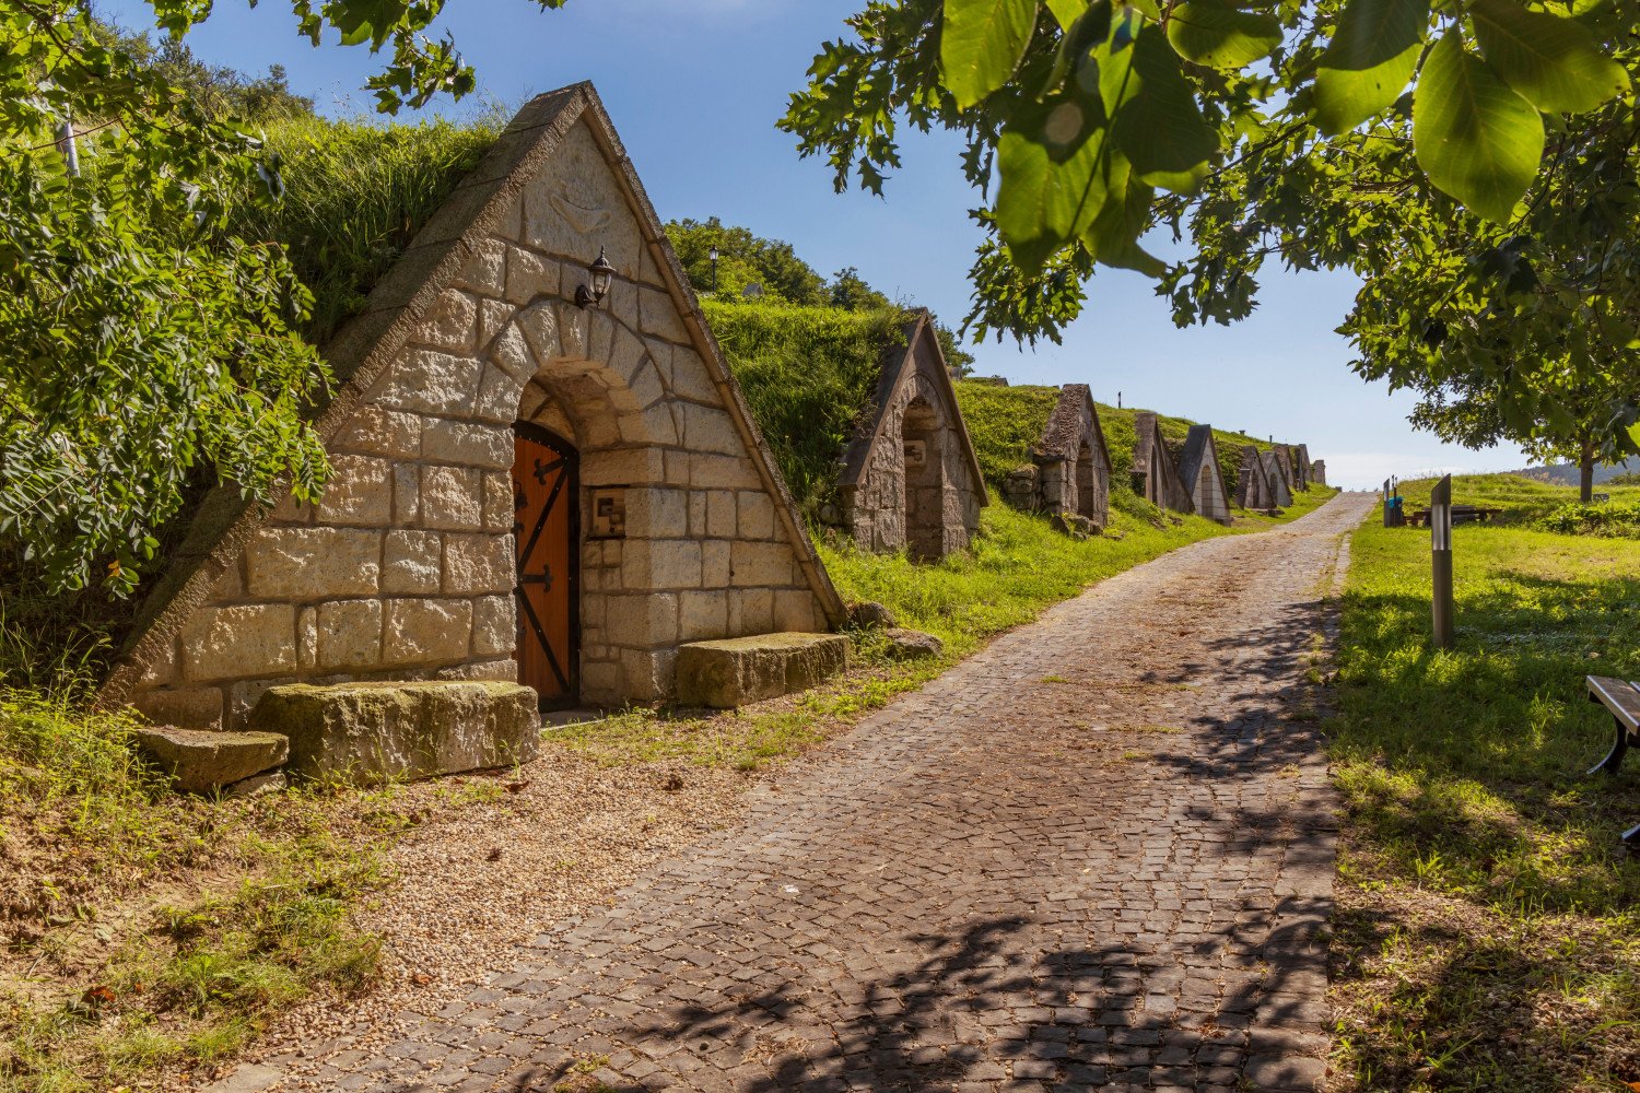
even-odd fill
[{"label": "orange-brown arched wooden door with black iron strapwork", "polygon": [[513,536],[518,541],[518,682],[541,708],[577,698],[581,664],[579,457],[564,438],[513,426]]}]

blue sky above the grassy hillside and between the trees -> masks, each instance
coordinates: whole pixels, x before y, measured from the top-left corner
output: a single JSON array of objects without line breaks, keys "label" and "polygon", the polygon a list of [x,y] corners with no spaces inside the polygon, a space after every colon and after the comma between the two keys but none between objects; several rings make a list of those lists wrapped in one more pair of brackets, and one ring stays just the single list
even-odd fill
[{"label": "blue sky above the grassy hillside and between the trees", "polygon": [[[956,323],[968,310],[977,195],[945,134],[907,134],[904,167],[886,200],[831,188],[831,172],[800,161],[774,121],[805,82],[822,41],[845,33],[863,0],[449,0],[444,23],[479,70],[481,95],[518,105],[590,79],[663,218],[720,216],[787,239],[822,274],[859,267],[872,285]],[[141,0],[98,8],[148,26]],[[207,61],[248,72],[284,64],[295,90],[333,115],[371,110],[361,85],[380,59],[362,49],[313,49],[290,5],[253,11],[221,0],[190,44]],[[449,115],[477,108],[435,107]],[[1361,382],[1333,333],[1355,293],[1337,274],[1271,275],[1253,318],[1176,329],[1151,283],[1102,270],[1064,344],[1020,351],[1012,341],[971,347],[977,369],[1017,383],[1084,382],[1094,397],[1212,421],[1227,429],[1309,444],[1338,485],[1371,487],[1389,474],[1509,470],[1519,449],[1471,452],[1415,433],[1412,398]]]}]

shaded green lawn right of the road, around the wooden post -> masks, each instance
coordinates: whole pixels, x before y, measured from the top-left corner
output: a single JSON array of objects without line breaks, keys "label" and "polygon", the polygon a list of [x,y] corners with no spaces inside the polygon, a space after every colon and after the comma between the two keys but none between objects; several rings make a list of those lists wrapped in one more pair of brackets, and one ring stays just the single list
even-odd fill
[{"label": "shaded green lawn right of the road, around the wooden post", "polygon": [[[1405,483],[1414,503],[1430,482]],[[1340,1088],[1609,1090],[1640,1080],[1640,767],[1583,772],[1640,678],[1640,542],[1530,524],[1569,490],[1455,480],[1458,647],[1428,646],[1428,534],[1351,541],[1327,723],[1348,806],[1335,939]]]}]

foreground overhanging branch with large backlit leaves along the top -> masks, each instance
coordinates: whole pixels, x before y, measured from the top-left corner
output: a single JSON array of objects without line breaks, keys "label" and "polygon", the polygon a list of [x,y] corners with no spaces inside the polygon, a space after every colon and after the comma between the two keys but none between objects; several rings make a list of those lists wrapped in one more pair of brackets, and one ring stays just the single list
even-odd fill
[{"label": "foreground overhanging branch with large backlit leaves along the top", "polygon": [[871,0],[781,125],[830,161],[838,188],[874,193],[899,166],[902,126],[963,134],[987,236],[968,323],[1058,339],[1096,265],[1166,274],[1141,238],[1215,169],[1268,159],[1271,144],[1353,144],[1389,110],[1415,121],[1407,164],[1422,184],[1507,221],[1540,170],[1545,125],[1629,87],[1589,7]]}]

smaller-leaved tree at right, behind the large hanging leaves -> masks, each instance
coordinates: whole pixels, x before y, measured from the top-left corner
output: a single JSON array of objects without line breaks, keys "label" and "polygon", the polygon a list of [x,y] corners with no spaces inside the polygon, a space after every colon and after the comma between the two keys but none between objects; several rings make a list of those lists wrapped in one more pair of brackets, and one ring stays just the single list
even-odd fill
[{"label": "smaller-leaved tree at right, behind the large hanging leaves", "polygon": [[[1633,10],[1583,23],[1640,39]],[[1640,51],[1617,56],[1640,75]],[[1414,424],[1448,441],[1571,459],[1588,497],[1594,464],[1640,441],[1640,151],[1629,100],[1555,123],[1507,223],[1419,170],[1415,103],[1325,143],[1274,133],[1164,205],[1197,244],[1163,277],[1176,320],[1246,315],[1269,256],[1350,269],[1364,283],[1340,333],[1361,375],[1420,392]]]}]

